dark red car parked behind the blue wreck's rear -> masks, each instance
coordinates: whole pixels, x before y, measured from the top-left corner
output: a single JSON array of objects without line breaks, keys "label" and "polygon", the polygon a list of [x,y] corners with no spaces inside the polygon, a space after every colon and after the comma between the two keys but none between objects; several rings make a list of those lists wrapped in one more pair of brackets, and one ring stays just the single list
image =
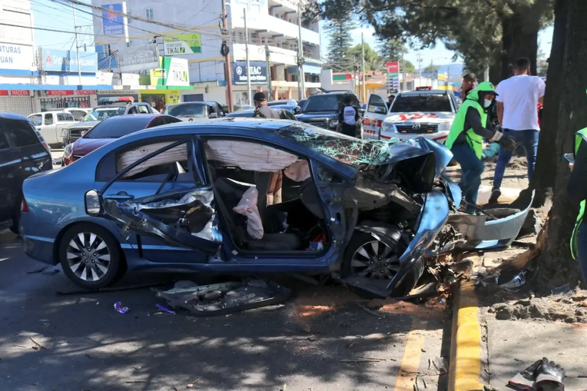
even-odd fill
[{"label": "dark red car parked behind the blue wreck's rear", "polygon": [[127,114],[106,118],[106,120],[83,134],[73,144],[65,147],[62,165],[70,165],[94,149],[100,148],[116,138],[139,130],[176,122],[181,122],[181,120],[171,115],[162,114]]}]

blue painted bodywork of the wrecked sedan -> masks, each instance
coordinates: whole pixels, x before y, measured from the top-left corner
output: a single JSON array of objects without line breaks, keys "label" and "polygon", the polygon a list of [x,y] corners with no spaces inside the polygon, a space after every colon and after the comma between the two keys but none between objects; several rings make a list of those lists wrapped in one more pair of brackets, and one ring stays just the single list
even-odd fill
[{"label": "blue painted bodywork of the wrecked sedan", "polygon": [[[76,161],[75,164],[46,173],[45,175],[39,174],[32,176],[23,184],[23,192],[25,193],[30,210],[29,213],[22,214],[21,220],[26,253],[35,259],[56,264],[59,238],[65,230],[75,223],[89,222],[97,223],[113,234],[120,243],[126,256],[127,266],[135,270],[151,270],[156,268],[158,271],[209,271],[225,273],[325,273],[338,270],[351,225],[345,219],[339,219],[341,216],[340,212],[342,211],[340,209],[342,207],[342,197],[340,197],[342,193],[337,194],[334,190],[335,186],[320,183],[316,180],[319,177],[316,175],[316,172],[318,166],[324,166],[343,178],[353,179],[357,171],[352,166],[345,165],[334,158],[328,157],[308,145],[300,144],[290,138],[275,133],[275,130],[293,124],[299,125],[295,121],[269,121],[251,118],[240,121],[220,119],[201,123],[163,125],[114,140],[86,155],[83,159]],[[326,220],[333,222],[333,224],[329,225],[333,245],[318,255],[313,253],[305,254],[303,252],[295,254],[295,256],[283,254],[279,256],[271,254],[235,254],[232,243],[226,239],[222,243],[223,256],[208,257],[197,249],[183,249],[168,246],[155,239],[152,239],[153,242],[149,242],[148,240],[143,240],[145,238],[141,236],[143,249],[141,257],[137,250],[136,235],[121,234],[120,228],[113,222],[102,217],[86,215],[85,193],[90,189],[104,188],[106,185],[105,182],[96,181],[96,170],[102,158],[115,149],[131,142],[154,137],[160,137],[161,141],[165,139],[177,140],[180,137],[194,137],[195,144],[199,145],[200,139],[198,137],[213,138],[220,135],[222,137],[246,137],[247,141],[263,141],[268,144],[273,144],[275,147],[294,151],[299,155],[309,158],[316,186],[318,186],[319,194],[325,206]],[[393,145],[390,148],[393,148]],[[407,152],[406,155],[414,154],[414,151],[408,150],[405,152]],[[207,182],[204,174],[203,159],[197,159],[196,165],[198,179],[201,182]],[[209,185],[209,183],[203,183],[203,185]],[[104,195],[125,191],[133,195],[135,199],[138,199],[153,195],[159,186],[160,183],[158,182],[117,181],[107,186]],[[193,188],[194,183],[171,182],[167,183],[166,186],[168,187],[164,188],[162,192]],[[67,189],[67,191],[63,192],[63,189]],[[446,196],[441,196],[444,197],[444,203],[447,203]],[[327,201],[329,197],[332,197],[332,199]],[[339,203],[337,203],[337,199]],[[431,193],[427,197],[426,210],[421,217],[419,230],[414,240],[410,243],[409,250],[406,250],[406,253],[402,256],[406,264],[409,263],[409,266],[406,266],[407,268],[411,267],[414,260],[419,258],[421,253],[427,249],[431,240],[436,236],[437,229],[440,229],[444,221],[446,221],[446,216],[444,216],[445,209],[446,213],[448,213],[448,206],[445,208],[440,201],[439,195]],[[342,216],[344,216],[344,213]],[[223,224],[224,222],[219,222],[220,227]],[[438,228],[436,229],[437,226]],[[352,227],[354,229],[354,225]],[[224,237],[227,237],[227,235]],[[423,247],[420,248],[418,246]],[[204,262],[203,257],[205,257]],[[392,285],[393,283],[389,283],[387,289],[389,290],[389,287]]]}]

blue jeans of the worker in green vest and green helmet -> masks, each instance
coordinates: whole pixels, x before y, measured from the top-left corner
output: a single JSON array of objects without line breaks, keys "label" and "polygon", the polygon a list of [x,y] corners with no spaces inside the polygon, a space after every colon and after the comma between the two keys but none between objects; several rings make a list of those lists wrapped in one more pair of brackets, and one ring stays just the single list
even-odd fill
[{"label": "blue jeans of the worker in green vest and green helmet", "polygon": [[477,158],[475,151],[466,142],[460,142],[454,144],[451,148],[454,158],[461,165],[461,182],[458,183],[461,191],[463,191],[463,197],[468,203],[477,203],[477,193],[479,192],[479,186],[481,186],[481,174],[485,166],[483,161]]}]

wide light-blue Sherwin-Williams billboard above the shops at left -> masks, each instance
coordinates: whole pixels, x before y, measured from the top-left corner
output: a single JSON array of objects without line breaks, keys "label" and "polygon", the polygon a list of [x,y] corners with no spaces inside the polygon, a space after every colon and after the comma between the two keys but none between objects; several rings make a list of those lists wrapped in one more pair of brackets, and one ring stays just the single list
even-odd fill
[{"label": "wide light-blue Sherwin-Williams billboard above the shops at left", "polygon": [[96,73],[98,70],[98,55],[91,52],[77,52],[75,50],[41,49],[43,70],[56,72],[86,72]]}]

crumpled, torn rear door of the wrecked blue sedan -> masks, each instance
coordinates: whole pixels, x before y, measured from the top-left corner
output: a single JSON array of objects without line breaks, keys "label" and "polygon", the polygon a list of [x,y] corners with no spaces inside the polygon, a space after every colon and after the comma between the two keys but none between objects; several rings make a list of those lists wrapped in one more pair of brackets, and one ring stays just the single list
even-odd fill
[{"label": "crumpled, torn rear door of the wrecked blue sedan", "polygon": [[[175,145],[176,143],[172,144]],[[163,148],[166,149],[166,148]],[[169,149],[169,148],[167,148]],[[188,141],[188,165],[193,167],[191,158],[191,141]],[[161,150],[160,150],[161,151]],[[158,154],[160,151],[154,153]],[[210,235],[203,239],[190,234],[178,225],[161,222],[153,216],[141,212],[143,203],[154,202],[186,193],[205,191],[205,186],[196,183],[193,174],[180,173],[173,181],[166,181],[168,175],[160,174],[134,181],[117,181],[125,172],[150,159],[152,154],[137,159],[112,180],[97,182],[96,188],[103,196],[104,217],[114,220],[128,237],[132,246],[139,248],[142,257],[157,263],[204,263],[210,254],[220,248],[221,236]],[[171,175],[171,174],[170,174]],[[191,176],[190,176],[191,175]],[[178,182],[177,179],[190,177],[191,181]],[[202,208],[200,205],[200,209]],[[200,210],[198,209],[198,210]],[[198,216],[198,210],[192,210]]]}]

